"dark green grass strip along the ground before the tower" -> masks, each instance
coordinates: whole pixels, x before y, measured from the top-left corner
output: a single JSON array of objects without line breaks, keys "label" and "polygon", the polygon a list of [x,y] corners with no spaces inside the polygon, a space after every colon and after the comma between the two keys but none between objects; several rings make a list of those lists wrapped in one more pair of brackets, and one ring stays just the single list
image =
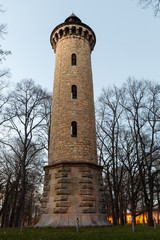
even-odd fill
[{"label": "dark green grass strip along the ground before the tower", "polygon": [[160,226],[156,229],[137,225],[95,228],[18,228],[0,229],[0,240],[160,240]]}]

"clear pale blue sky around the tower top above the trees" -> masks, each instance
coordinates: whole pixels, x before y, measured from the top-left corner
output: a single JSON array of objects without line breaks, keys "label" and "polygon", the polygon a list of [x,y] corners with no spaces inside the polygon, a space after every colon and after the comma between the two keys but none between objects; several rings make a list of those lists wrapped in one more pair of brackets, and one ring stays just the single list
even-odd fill
[{"label": "clear pale blue sky around the tower top above the trees", "polygon": [[5,65],[11,82],[32,78],[52,91],[55,54],[52,30],[74,12],[96,34],[92,52],[95,99],[103,87],[120,86],[129,76],[160,82],[160,18],[138,0],[1,0],[1,40],[10,50]]}]

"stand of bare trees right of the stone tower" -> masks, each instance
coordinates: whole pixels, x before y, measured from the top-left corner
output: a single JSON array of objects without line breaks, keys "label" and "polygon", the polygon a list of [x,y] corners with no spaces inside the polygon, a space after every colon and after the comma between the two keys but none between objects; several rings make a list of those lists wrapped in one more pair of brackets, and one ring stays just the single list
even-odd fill
[{"label": "stand of bare trees right of the stone tower", "polygon": [[97,104],[97,146],[104,166],[107,214],[124,224],[127,209],[160,209],[160,85],[128,79],[103,90]]}]

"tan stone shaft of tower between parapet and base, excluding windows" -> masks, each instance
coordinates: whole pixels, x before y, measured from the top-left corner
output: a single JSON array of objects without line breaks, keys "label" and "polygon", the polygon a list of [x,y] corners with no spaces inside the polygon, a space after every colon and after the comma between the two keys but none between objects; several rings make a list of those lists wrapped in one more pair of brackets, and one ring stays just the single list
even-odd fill
[{"label": "tan stone shaft of tower between parapet and base, excluding windows", "polygon": [[[67,36],[56,45],[49,164],[64,161],[97,163],[95,113],[90,44],[80,36]],[[71,55],[77,65],[71,65]],[[71,86],[77,86],[77,99]],[[77,137],[71,137],[71,122]]]}]

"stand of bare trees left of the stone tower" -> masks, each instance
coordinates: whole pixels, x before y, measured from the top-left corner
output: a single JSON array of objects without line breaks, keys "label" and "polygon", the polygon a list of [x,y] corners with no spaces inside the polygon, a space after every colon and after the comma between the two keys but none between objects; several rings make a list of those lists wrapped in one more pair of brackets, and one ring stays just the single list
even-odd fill
[{"label": "stand of bare trees left of the stone tower", "polygon": [[0,139],[2,227],[38,217],[43,166],[49,144],[51,96],[31,79],[17,83],[3,110]]}]

